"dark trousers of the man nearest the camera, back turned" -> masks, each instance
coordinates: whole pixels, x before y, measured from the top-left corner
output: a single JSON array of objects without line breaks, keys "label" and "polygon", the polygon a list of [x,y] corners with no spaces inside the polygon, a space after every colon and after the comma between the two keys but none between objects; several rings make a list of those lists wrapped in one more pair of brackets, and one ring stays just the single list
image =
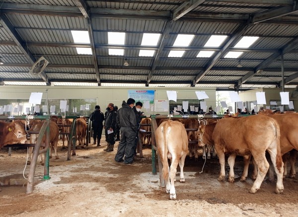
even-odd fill
[{"label": "dark trousers of the man nearest the camera, back turned", "polygon": [[121,161],[125,155],[124,163],[133,163],[136,132],[130,127],[121,127],[120,134],[120,142],[115,161]]}]

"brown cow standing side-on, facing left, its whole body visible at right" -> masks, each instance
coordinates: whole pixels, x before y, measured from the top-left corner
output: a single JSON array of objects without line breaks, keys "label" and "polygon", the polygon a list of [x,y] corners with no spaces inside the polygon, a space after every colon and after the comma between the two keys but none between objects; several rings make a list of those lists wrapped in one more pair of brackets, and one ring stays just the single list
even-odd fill
[{"label": "brown cow standing side-on, facing left, its whole body visible at right", "polygon": [[[198,130],[199,146],[209,142],[215,145],[221,164],[218,180],[222,181],[225,178],[225,154],[230,154],[227,160],[230,167],[228,177],[230,182],[234,181],[233,166],[236,155],[243,156],[245,166],[248,166],[252,155],[258,167],[258,175],[249,192],[256,193],[269,168],[265,157],[265,152],[268,151],[277,174],[275,192],[277,194],[283,192],[284,168],[280,151],[280,128],[277,121],[265,115],[253,115],[243,118],[223,118],[216,124],[209,125],[201,125]],[[241,130],[231,133],[230,129]],[[247,169],[244,168],[241,180],[245,180],[246,177]]]}]

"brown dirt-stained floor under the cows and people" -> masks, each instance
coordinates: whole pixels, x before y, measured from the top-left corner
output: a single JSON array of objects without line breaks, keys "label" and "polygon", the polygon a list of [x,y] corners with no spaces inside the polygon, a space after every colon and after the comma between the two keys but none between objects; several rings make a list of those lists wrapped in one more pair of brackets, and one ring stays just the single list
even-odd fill
[{"label": "brown dirt-stained floor under the cows and people", "polygon": [[[62,144],[60,142],[60,144]],[[35,188],[26,194],[23,170],[27,149],[0,151],[0,213],[17,217],[288,217],[298,216],[298,180],[284,179],[285,191],[275,194],[276,183],[265,181],[256,194],[249,194],[253,180],[240,182],[241,158],[235,165],[234,183],[217,180],[218,159],[195,162],[186,158],[185,183],[175,183],[177,200],[169,200],[159,187],[159,175],[151,172],[151,149],[143,149],[144,158],[133,164],[114,162],[114,152],[89,145],[76,150],[67,161],[67,150],[59,146],[59,160],[50,160],[50,180],[43,181],[43,166],[36,167]],[[29,166],[25,168],[27,177]],[[179,168],[177,169],[179,180]],[[226,165],[226,171],[228,167]]]}]

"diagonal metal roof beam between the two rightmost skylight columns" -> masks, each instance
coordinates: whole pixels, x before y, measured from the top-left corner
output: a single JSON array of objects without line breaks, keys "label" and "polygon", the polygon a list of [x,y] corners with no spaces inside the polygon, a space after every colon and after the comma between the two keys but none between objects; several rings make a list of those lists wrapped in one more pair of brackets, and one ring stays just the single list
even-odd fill
[{"label": "diagonal metal roof beam between the two rightmost skylight columns", "polygon": [[248,25],[240,25],[235,33],[230,37],[230,39],[225,43],[224,47],[218,52],[215,57],[207,64],[204,71],[198,71],[197,76],[194,78],[192,86],[195,86],[203,77],[204,75],[209,72],[212,67],[219,61],[224,54],[226,54],[229,48],[242,36],[242,34],[246,31]]}]

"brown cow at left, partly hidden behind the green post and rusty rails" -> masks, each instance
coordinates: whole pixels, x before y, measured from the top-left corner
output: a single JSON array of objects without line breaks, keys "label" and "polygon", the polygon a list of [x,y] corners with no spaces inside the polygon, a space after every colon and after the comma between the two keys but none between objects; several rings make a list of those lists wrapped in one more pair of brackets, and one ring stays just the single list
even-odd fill
[{"label": "brown cow at left, partly hidden behind the green post and rusty rails", "polygon": [[[40,129],[41,129],[41,127],[42,127],[43,124],[44,124],[44,121],[35,122],[32,125],[32,127],[30,128],[30,131],[40,131]],[[30,135],[30,143],[31,144],[36,143],[36,140],[37,140],[38,135],[39,134],[31,134]],[[56,159],[59,159],[59,156],[57,154],[58,140],[59,140],[59,128],[57,126],[57,123],[54,122],[54,121],[50,121],[50,158],[52,158],[51,149],[54,149],[54,151],[55,151],[55,158]],[[42,139],[42,143],[45,144],[45,141],[46,141],[46,136],[44,135],[43,136],[43,139]],[[29,149],[30,155],[29,155],[29,159],[28,159],[28,163],[29,164],[31,162],[32,150],[33,150],[33,148],[30,147],[30,149]],[[42,155],[40,155],[40,158],[41,158],[42,165],[44,165]]]}]

